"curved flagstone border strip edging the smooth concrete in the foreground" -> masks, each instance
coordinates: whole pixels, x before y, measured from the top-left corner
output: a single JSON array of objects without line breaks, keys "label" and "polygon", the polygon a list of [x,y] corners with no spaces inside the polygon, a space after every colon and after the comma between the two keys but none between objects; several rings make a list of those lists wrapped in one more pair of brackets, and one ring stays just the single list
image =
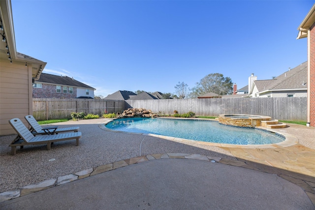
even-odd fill
[{"label": "curved flagstone border strip edging the smooth concrete in the foreground", "polygon": [[[227,165],[232,165],[236,167],[242,167],[242,168],[252,169],[252,170],[256,170],[260,172],[270,173],[268,169],[264,169],[261,167],[256,168],[252,164],[246,163],[245,160],[244,161],[243,160],[230,160],[230,159],[225,159],[221,157],[206,156],[206,155],[201,155],[201,154],[186,154],[186,153],[148,154],[148,155],[132,157],[125,160],[86,169],[83,171],[76,172],[74,174],[69,174],[69,175],[59,177],[58,179],[45,180],[39,183],[30,184],[28,186],[21,187],[19,189],[5,191],[5,192],[0,193],[0,203],[3,201],[19,198],[21,196],[25,196],[33,192],[38,192],[38,191],[45,190],[51,187],[59,186],[59,185],[62,185],[71,181],[81,180],[90,176],[94,176],[96,174],[112,171],[115,169],[132,165],[132,164],[137,164],[137,163],[141,163],[141,162],[145,162],[149,160],[164,159],[164,158],[202,160],[202,161],[209,161],[212,163],[227,164]],[[275,175],[300,186],[306,192],[306,194],[308,195],[308,197],[310,198],[310,200],[313,202],[315,206],[315,178],[303,180],[303,178],[299,179],[294,176],[291,177],[291,176],[287,176],[283,174],[275,174]]]}]

